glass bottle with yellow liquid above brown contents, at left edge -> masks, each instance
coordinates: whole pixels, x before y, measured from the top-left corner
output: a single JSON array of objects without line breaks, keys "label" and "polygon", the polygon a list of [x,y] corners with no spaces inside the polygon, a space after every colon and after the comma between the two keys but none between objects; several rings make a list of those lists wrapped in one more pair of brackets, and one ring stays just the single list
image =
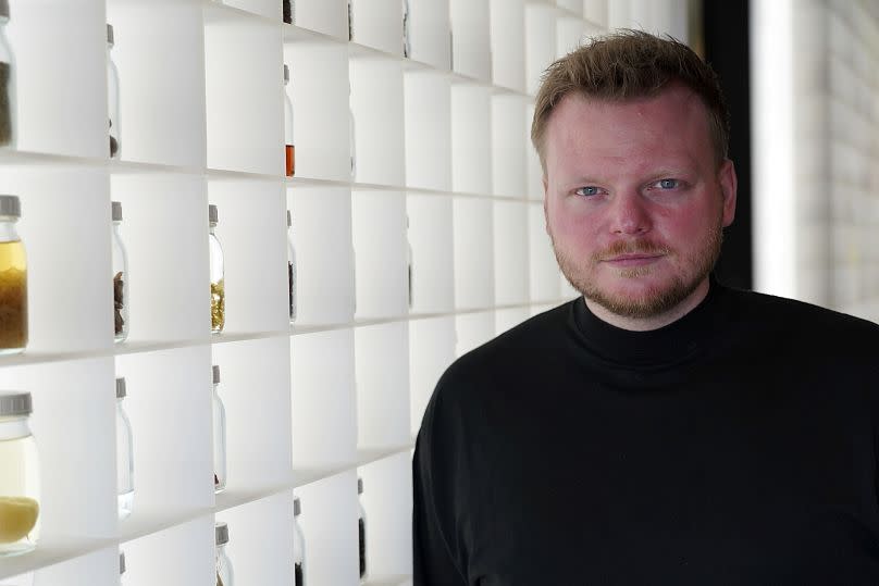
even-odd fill
[{"label": "glass bottle with yellow liquid above brown contents, at left edge", "polygon": [[0,356],[27,346],[27,254],[15,223],[22,216],[17,196],[0,196]]}]

